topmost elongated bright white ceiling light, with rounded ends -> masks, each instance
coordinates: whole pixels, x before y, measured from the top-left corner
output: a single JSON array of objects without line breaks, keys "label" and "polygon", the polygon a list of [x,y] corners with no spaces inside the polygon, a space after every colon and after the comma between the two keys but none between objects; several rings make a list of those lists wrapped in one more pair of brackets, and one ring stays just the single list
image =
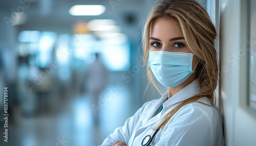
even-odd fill
[{"label": "topmost elongated bright white ceiling light, with rounded ends", "polygon": [[106,7],[103,5],[75,5],[69,9],[73,16],[97,16],[105,12]]}]

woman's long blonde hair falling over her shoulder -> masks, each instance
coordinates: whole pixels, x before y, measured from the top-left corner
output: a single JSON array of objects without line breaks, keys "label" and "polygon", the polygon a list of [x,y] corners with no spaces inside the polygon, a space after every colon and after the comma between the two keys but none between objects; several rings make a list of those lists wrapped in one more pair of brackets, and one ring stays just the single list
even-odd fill
[{"label": "woman's long blonde hair falling over her shoulder", "polygon": [[[174,18],[179,23],[190,51],[199,59],[196,78],[201,91],[191,98],[179,102],[179,105],[161,119],[154,130],[163,128],[182,106],[197,102],[202,97],[209,98],[211,104],[214,105],[216,103],[215,89],[219,76],[218,58],[215,49],[216,29],[205,9],[194,0],[164,0],[152,8],[146,19],[142,36],[144,64],[147,64],[148,60],[152,24],[159,17]],[[147,76],[160,92],[150,67],[147,67]]]}]

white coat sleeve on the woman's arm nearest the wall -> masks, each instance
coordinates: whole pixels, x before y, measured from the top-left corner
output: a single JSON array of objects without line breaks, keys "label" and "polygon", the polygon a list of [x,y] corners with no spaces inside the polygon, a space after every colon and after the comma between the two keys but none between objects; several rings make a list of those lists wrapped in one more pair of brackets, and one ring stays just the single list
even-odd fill
[{"label": "white coat sleeve on the woman's arm nearest the wall", "polygon": [[224,145],[223,120],[218,110],[191,105],[180,110],[155,145]]}]

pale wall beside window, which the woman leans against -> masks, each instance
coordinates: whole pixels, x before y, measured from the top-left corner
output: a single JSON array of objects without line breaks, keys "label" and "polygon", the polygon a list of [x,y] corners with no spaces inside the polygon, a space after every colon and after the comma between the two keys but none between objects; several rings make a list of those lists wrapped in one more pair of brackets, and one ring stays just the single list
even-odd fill
[{"label": "pale wall beside window, which the woman leans against", "polygon": [[248,108],[248,2],[220,0],[221,110],[226,145],[256,145],[256,113]]}]

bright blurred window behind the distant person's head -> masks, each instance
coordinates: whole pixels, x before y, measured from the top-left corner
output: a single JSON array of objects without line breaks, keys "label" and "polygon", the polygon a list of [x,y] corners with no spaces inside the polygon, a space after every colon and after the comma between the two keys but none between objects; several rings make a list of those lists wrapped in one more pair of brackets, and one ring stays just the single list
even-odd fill
[{"label": "bright blurred window behind the distant person's head", "polygon": [[130,68],[130,42],[120,33],[105,34],[99,40],[93,35],[74,35],[74,56],[90,64],[94,54],[99,53],[101,61],[110,71],[126,71]]}]

